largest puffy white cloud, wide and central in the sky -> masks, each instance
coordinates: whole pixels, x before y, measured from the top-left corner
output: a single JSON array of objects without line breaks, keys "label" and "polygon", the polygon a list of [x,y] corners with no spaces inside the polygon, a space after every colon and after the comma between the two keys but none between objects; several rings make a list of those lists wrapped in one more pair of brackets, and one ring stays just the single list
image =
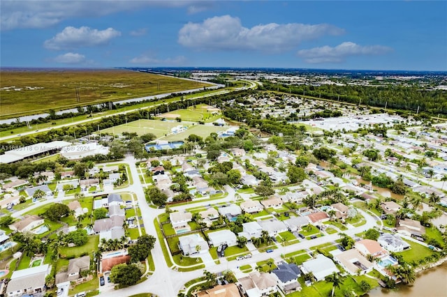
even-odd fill
[{"label": "largest puffy white cloud, wide and central in the sky", "polygon": [[178,42],[200,50],[261,50],[283,52],[303,40],[339,35],[343,29],[330,24],[259,24],[242,26],[238,17],[211,17],[202,23],[189,22],[179,31]]}]

